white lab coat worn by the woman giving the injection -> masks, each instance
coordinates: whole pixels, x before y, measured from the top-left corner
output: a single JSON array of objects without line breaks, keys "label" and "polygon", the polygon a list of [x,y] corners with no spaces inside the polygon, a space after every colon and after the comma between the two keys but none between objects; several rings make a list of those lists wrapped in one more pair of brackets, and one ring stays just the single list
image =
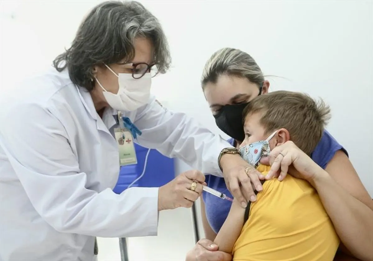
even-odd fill
[{"label": "white lab coat worn by the woman giving the injection", "polygon": [[[158,188],[112,191],[119,174],[115,111],[54,69],[1,94],[1,260],[93,260],[94,237],[157,234]],[[139,144],[221,175],[227,142],[153,98],[123,112]],[[162,175],[162,173],[158,173]]]}]

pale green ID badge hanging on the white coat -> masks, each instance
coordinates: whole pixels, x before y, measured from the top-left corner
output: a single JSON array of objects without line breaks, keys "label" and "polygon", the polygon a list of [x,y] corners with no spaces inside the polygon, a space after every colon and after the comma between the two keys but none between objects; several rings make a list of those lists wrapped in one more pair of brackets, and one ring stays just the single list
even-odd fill
[{"label": "pale green ID badge hanging on the white coat", "polygon": [[120,166],[137,164],[135,144],[131,132],[127,129],[117,128],[114,133],[119,149]]}]

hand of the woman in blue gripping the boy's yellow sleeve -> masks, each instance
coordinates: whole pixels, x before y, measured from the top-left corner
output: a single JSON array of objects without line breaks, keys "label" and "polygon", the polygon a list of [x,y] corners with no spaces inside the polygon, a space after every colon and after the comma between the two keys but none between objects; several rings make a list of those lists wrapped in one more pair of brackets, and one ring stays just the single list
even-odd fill
[{"label": "hand of the woman in blue gripping the boy's yellow sleeve", "polygon": [[294,142],[287,141],[274,148],[267,158],[262,158],[260,163],[270,165],[271,170],[266,179],[278,177],[283,180],[289,173],[298,179],[312,180],[321,169],[307,154],[298,148]]}]

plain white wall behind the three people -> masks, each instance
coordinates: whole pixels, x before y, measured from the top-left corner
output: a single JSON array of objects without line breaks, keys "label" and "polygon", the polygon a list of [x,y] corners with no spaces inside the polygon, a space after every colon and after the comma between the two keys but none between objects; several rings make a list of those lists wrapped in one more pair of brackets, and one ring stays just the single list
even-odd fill
[{"label": "plain white wall behind the three people", "polygon": [[[49,65],[99,2],[2,0],[1,91]],[[141,2],[160,19],[173,57],[170,72],[154,80],[159,100],[222,134],[204,100],[201,71],[219,48],[247,51],[265,74],[288,79],[270,78],[271,90],[303,91],[330,104],[328,130],[373,196],[372,1]]]}]

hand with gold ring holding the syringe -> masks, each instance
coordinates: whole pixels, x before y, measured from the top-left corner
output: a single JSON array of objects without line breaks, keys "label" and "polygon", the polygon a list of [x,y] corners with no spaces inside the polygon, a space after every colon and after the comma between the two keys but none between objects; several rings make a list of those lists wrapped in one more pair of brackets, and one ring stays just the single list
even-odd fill
[{"label": "hand with gold ring holding the syringe", "polygon": [[190,208],[202,193],[205,175],[198,170],[188,170],[159,188],[158,210],[178,207]]}]

